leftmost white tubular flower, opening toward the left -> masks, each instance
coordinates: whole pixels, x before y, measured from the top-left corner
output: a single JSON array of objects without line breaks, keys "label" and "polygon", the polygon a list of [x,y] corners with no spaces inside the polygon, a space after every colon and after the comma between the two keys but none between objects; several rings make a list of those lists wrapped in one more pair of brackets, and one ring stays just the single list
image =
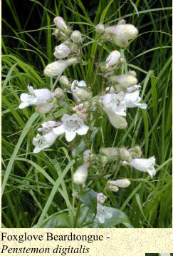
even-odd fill
[{"label": "leftmost white tubular flower, opening toward the left", "polygon": [[20,98],[22,103],[19,105],[19,108],[26,108],[30,105],[47,103],[56,95],[48,89],[33,90],[33,86],[28,86],[28,91],[29,93],[21,93]]}]

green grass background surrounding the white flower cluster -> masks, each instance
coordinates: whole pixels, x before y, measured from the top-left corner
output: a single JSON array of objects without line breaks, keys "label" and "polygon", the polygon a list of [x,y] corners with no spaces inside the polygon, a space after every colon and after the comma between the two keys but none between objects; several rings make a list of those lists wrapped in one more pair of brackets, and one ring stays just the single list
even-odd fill
[{"label": "green grass background surrounding the white flower cluster", "polygon": [[[132,179],[132,185],[118,193],[108,193],[107,205],[122,210],[133,227],[172,227],[172,1],[9,1],[2,3],[2,227],[32,227],[38,221],[58,213],[75,212],[71,196],[71,173],[76,168],[64,139],[34,155],[32,139],[43,120],[33,108],[19,110],[20,94],[29,83],[34,88],[53,88],[58,82],[43,76],[43,68],[54,61],[57,45],[53,18],[63,16],[73,29],[85,36],[83,59],[87,81],[93,80],[94,61],[100,45],[94,26],[99,22],[116,24],[122,17],[139,29],[137,39],[122,50],[127,59],[125,71],[137,72],[142,85],[142,99],[147,111],[130,109],[129,126],[116,130],[108,118],[98,121],[102,133],[93,141],[95,152],[105,147],[135,144],[145,158],[155,155],[157,175],[118,167],[116,177]],[[102,61],[116,46],[107,43]],[[82,80],[80,66],[68,68],[69,78]],[[94,94],[100,91],[98,74]],[[61,117],[66,109],[59,109]],[[61,185],[55,187],[58,177]],[[118,175],[117,175],[118,173]],[[56,184],[57,185],[57,184]],[[98,185],[98,190],[102,190]],[[117,225],[116,227],[125,227]]]}]

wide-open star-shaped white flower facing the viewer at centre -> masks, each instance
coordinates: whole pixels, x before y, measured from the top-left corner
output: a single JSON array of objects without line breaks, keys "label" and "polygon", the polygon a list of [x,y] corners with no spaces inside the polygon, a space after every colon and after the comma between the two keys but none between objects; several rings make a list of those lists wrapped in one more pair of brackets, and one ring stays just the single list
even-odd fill
[{"label": "wide-open star-shaped white flower facing the viewer at centre", "polygon": [[63,124],[57,128],[53,128],[53,132],[56,133],[56,135],[65,133],[65,138],[68,142],[75,138],[76,133],[78,133],[78,135],[84,135],[88,132],[88,126],[85,126],[83,120],[76,114],[72,116],[64,114],[61,121]]}]

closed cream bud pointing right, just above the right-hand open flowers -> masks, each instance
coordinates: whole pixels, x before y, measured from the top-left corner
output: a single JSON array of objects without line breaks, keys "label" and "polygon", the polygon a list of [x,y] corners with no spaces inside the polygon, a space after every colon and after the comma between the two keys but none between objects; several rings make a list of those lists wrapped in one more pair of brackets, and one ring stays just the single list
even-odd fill
[{"label": "closed cream bud pointing right, just above the right-hand open flowers", "polygon": [[111,76],[110,81],[112,83],[116,82],[119,83],[122,87],[130,87],[135,86],[137,84],[137,78],[135,76],[129,75],[129,74],[122,74],[119,76]]}]

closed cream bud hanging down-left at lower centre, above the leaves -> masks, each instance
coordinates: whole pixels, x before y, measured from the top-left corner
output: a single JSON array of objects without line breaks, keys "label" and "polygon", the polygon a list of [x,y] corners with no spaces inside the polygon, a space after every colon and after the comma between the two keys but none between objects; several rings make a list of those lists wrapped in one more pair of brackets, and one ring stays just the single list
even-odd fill
[{"label": "closed cream bud hanging down-left at lower centre, above the leaves", "polygon": [[86,162],[83,165],[80,165],[75,173],[73,174],[73,183],[75,184],[83,184],[88,176],[88,167],[90,163]]}]

